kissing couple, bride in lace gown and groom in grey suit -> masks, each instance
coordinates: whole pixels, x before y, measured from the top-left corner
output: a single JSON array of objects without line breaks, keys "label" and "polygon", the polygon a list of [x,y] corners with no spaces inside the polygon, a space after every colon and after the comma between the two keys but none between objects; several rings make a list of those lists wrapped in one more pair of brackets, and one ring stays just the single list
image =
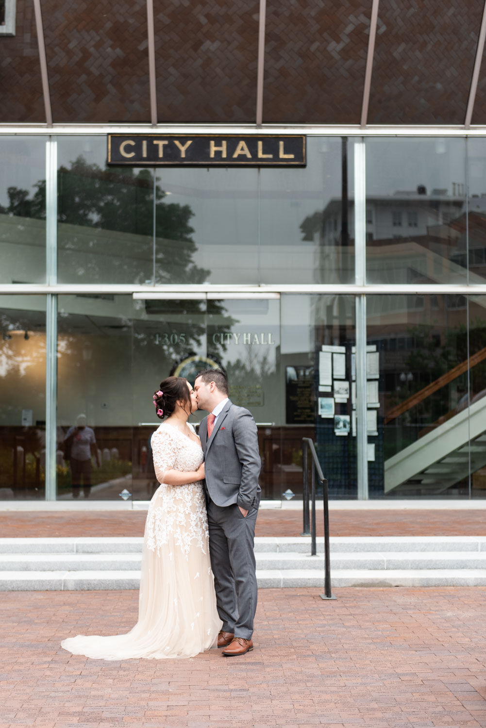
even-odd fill
[{"label": "kissing couple, bride in lace gown and groom in grey suit", "polygon": [[[194,657],[212,646],[225,657],[253,649],[254,535],[261,461],[256,423],[228,398],[219,369],[169,376],[155,392],[155,491],[146,518],[138,622],[128,634],[78,635],[61,646],[102,660]],[[208,411],[199,437],[189,424]]]}]

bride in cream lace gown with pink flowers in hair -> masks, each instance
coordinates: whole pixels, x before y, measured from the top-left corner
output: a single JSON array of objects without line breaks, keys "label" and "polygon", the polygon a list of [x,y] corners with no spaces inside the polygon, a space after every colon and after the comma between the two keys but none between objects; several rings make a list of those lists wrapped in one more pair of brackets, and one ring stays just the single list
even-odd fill
[{"label": "bride in cream lace gown with pink flowers in hair", "polygon": [[216,611],[203,491],[203,451],[189,414],[197,410],[187,379],[169,376],[154,394],[165,421],[152,435],[157,480],[146,518],[138,622],[124,635],[78,635],[61,646],[103,660],[194,657],[216,643]]}]

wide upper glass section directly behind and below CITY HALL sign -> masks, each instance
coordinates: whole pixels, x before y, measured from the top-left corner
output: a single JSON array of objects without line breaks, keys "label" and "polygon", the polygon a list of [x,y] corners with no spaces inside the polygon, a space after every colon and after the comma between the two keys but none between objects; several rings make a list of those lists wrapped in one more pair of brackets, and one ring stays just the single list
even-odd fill
[{"label": "wide upper glass section directly behind and below CITY HALL sign", "polygon": [[106,167],[105,137],[60,138],[58,282],[352,282],[353,149],[309,138],[305,169],[235,174]]}]

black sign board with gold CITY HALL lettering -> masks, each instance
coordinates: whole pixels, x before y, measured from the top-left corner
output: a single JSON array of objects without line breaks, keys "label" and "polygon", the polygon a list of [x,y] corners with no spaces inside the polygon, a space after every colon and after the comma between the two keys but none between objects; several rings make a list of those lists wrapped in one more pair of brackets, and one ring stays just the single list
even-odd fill
[{"label": "black sign board with gold CITY HALL lettering", "polygon": [[305,136],[109,134],[108,164],[305,167]]}]

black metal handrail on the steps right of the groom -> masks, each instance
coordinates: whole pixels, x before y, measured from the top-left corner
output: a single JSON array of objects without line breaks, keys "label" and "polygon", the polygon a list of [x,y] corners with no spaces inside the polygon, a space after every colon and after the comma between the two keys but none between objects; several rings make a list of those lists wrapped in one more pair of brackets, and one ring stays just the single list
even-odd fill
[{"label": "black metal handrail on the steps right of the groom", "polygon": [[[310,523],[309,523],[309,457],[310,450]],[[310,534],[310,554],[315,556],[317,553],[317,545],[315,540],[315,475],[319,479],[323,488],[323,506],[324,506],[324,594],[323,599],[334,599],[331,593],[331,558],[329,555],[329,492],[327,488],[327,480],[324,478],[321,463],[318,460],[313,440],[310,438],[302,438],[302,505],[304,510],[304,529],[302,536]],[[310,530],[309,530],[310,529]]]}]

